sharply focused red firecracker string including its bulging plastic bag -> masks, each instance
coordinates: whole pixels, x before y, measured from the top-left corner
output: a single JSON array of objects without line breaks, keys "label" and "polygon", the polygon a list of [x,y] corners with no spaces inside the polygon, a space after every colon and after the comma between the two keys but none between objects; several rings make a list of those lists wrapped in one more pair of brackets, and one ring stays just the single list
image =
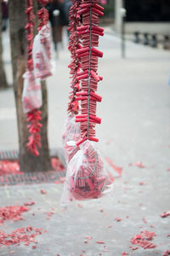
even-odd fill
[{"label": "sharply focused red firecracker string including its bulging plastic bag", "polygon": [[62,203],[76,200],[96,199],[103,195],[111,184],[108,172],[104,168],[98,151],[90,141],[98,142],[95,137],[95,125],[101,123],[96,116],[97,102],[101,96],[96,94],[98,82],[103,78],[97,73],[98,58],[103,53],[99,46],[99,36],[104,29],[99,27],[99,16],[103,16],[103,8],[99,0],[83,0],[78,15],[82,15],[82,26],[77,26],[77,34],[81,35],[82,44],[77,49],[77,57],[81,60],[82,72],[77,73],[81,81],[81,91],[76,93],[77,101],[81,101],[81,114],[76,115],[80,123],[81,138],[77,141],[77,151],[70,160],[65,178]]}]

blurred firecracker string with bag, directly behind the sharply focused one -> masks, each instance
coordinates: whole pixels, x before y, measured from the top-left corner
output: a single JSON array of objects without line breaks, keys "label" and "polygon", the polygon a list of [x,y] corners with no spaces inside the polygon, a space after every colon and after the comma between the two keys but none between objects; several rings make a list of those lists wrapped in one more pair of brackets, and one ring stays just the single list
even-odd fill
[{"label": "blurred firecracker string with bag, directly behind the sharply focused one", "polygon": [[68,162],[71,160],[72,156],[77,152],[76,143],[78,139],[80,139],[80,124],[76,123],[75,115],[79,111],[79,105],[76,99],[76,93],[80,90],[80,82],[77,80],[77,73],[80,72],[81,63],[80,58],[77,56],[77,49],[80,47],[80,38],[81,36],[77,33],[77,26],[81,26],[81,18],[80,15],[77,14],[77,11],[80,8],[81,1],[72,0],[71,1],[71,9],[70,9],[70,17],[69,17],[69,27],[70,31],[70,41],[68,49],[71,52],[71,63],[68,67],[70,67],[71,74],[71,93],[69,96],[68,103],[68,117],[65,121],[65,128],[63,132],[63,146],[65,152],[65,160]]}]

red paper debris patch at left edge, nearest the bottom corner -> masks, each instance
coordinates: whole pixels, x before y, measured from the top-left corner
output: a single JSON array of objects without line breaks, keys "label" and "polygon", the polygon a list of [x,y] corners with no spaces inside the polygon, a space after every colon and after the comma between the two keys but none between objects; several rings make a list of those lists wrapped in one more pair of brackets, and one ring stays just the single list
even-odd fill
[{"label": "red paper debris patch at left edge, nearest the bottom corner", "polygon": [[42,232],[39,230],[40,229],[34,232],[35,230],[30,226],[27,228],[14,230],[10,234],[4,233],[2,230],[0,230],[0,247],[11,246],[14,244],[20,245],[20,242],[24,242],[26,246],[30,245],[31,242],[37,243],[35,239],[36,236],[42,234]]}]

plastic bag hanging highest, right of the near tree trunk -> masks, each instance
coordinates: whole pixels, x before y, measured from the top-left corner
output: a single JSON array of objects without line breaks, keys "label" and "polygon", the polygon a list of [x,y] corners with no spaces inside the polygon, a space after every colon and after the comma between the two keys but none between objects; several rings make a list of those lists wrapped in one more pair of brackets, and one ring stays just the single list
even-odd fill
[{"label": "plastic bag hanging highest, right of the near tree trunk", "polygon": [[54,72],[50,28],[42,26],[33,42],[33,62],[36,78],[47,79]]}]

